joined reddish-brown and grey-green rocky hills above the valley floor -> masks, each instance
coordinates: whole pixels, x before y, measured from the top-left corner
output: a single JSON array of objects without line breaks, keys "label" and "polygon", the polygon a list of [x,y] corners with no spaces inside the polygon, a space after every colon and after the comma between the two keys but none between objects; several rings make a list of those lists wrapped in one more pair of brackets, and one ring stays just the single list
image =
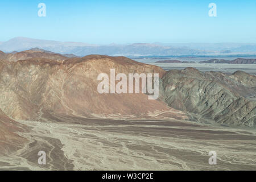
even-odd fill
[{"label": "joined reddish-brown and grey-green rocky hills above the valley floor", "polygon": [[[146,94],[98,93],[97,76],[110,75],[113,68],[115,74],[159,73],[159,99],[148,100]],[[233,75],[203,73],[194,68],[165,72],[126,57],[1,60],[0,92],[0,109],[14,119],[41,121],[55,115],[146,118],[160,113],[169,118],[188,119],[184,114],[188,113],[197,121],[212,119],[246,126],[255,126],[256,119],[255,102],[250,100],[256,93],[255,76],[241,71]]]}]

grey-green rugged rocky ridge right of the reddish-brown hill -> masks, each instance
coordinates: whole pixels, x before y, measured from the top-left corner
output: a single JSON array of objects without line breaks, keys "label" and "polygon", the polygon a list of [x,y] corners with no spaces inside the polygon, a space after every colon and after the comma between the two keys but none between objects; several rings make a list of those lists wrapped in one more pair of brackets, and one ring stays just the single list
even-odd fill
[{"label": "grey-green rugged rocky ridge right of the reddish-brown hill", "polygon": [[256,93],[255,76],[241,71],[228,76],[186,68],[167,72],[163,89],[164,100],[170,107],[218,123],[255,127],[256,102],[249,100]]}]

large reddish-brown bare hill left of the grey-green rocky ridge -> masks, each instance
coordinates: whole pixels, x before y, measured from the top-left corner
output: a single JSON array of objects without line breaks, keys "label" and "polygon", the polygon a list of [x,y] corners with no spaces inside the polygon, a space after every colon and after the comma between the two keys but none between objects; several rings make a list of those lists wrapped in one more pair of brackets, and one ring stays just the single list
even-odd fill
[{"label": "large reddish-brown bare hill left of the grey-green rocky ridge", "polygon": [[15,119],[40,119],[42,115],[133,118],[170,111],[186,118],[146,94],[100,94],[97,76],[110,73],[159,73],[163,69],[126,57],[89,55],[65,61],[30,59],[0,63],[0,108]]}]

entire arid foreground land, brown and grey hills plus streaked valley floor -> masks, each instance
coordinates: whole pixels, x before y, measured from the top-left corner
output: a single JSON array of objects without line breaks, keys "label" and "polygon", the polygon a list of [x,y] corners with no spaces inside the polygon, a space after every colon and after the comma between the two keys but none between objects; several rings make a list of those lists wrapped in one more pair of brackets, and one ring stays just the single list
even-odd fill
[{"label": "entire arid foreground land, brown and grey hills plus streaked valley floor", "polygon": [[[256,170],[253,75],[38,49],[0,55],[1,170]],[[110,69],[158,73],[158,100],[98,93]]]}]

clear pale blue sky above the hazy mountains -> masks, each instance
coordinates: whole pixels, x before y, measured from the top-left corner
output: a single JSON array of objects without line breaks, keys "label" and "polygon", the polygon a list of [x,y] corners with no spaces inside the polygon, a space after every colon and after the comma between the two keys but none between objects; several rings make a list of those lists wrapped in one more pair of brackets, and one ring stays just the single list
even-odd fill
[{"label": "clear pale blue sky above the hazy mountains", "polygon": [[[39,3],[46,16],[39,17]],[[216,17],[210,17],[210,3]],[[0,42],[17,36],[90,44],[256,43],[256,1],[0,1]]]}]

